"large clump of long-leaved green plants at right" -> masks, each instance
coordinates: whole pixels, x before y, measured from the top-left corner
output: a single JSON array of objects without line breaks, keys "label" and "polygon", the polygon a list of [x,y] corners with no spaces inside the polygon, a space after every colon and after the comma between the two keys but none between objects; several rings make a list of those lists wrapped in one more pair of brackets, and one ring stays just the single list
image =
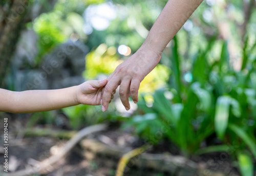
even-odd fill
[{"label": "large clump of long-leaved green plants at right", "polygon": [[[212,49],[220,43],[220,59],[209,63]],[[195,55],[193,67],[187,70],[191,79],[187,79],[187,72],[181,70],[184,61],[179,58],[178,45],[174,38],[169,56],[173,71],[167,89],[156,91],[150,102],[142,96],[137,115],[123,128],[133,126],[136,134],[153,144],[168,138],[185,156],[202,152],[202,141],[216,134],[223,145],[208,146],[204,152],[227,152],[228,144],[238,146],[234,154],[241,173],[252,175],[253,160],[246,153],[256,159],[256,57],[248,52],[255,46],[245,45],[250,59],[244,69],[234,71],[229,67],[227,43],[213,37]]]}]

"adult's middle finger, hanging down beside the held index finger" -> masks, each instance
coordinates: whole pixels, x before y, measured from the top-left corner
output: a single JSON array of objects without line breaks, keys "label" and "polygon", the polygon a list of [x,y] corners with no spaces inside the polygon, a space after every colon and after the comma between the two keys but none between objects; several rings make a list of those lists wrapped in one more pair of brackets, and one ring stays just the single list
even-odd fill
[{"label": "adult's middle finger, hanging down beside the held index finger", "polygon": [[119,95],[120,95],[121,102],[127,111],[131,108],[129,104],[129,97],[128,97],[130,84],[131,84],[131,80],[123,80],[119,88]]}]

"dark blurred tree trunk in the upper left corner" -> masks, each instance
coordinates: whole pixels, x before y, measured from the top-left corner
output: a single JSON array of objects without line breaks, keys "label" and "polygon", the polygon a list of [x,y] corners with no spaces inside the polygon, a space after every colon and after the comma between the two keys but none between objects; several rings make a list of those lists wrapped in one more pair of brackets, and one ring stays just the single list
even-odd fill
[{"label": "dark blurred tree trunk in the upper left corner", "polygon": [[2,0],[0,2],[0,87],[6,88],[5,76],[20,31],[25,26],[24,16],[31,8],[31,0]]}]

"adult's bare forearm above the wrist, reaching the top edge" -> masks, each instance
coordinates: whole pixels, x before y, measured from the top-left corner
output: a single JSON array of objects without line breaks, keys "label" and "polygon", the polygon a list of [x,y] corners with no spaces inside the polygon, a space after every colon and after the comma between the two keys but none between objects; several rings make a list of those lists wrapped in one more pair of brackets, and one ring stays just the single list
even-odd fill
[{"label": "adult's bare forearm above the wrist, reaching the top edge", "polygon": [[169,0],[148,33],[143,47],[161,54],[203,0]]}]

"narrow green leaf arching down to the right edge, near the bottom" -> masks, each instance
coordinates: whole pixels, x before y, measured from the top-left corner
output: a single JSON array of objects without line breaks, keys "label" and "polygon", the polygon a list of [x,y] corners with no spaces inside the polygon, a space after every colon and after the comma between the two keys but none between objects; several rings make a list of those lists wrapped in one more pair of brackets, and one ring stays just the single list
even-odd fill
[{"label": "narrow green leaf arching down to the right edge, near the bottom", "polygon": [[248,134],[243,129],[235,124],[229,124],[228,128],[236,133],[241,139],[243,139],[256,159],[256,143],[253,141],[253,139],[251,139],[251,137],[248,136]]}]

